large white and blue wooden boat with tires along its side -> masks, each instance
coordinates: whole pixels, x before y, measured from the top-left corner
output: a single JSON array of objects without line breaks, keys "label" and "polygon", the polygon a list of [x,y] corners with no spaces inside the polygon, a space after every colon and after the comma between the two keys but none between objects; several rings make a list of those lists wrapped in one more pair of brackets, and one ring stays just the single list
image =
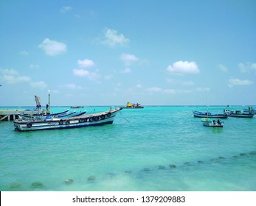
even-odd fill
[{"label": "large white and blue wooden boat with tires along its side", "polygon": [[101,113],[93,113],[89,115],[73,116],[67,118],[49,118],[37,120],[35,118],[18,119],[13,121],[15,130],[17,131],[35,131],[44,129],[70,129],[77,127],[100,126],[104,124],[112,124],[117,112],[122,107],[107,110]]}]

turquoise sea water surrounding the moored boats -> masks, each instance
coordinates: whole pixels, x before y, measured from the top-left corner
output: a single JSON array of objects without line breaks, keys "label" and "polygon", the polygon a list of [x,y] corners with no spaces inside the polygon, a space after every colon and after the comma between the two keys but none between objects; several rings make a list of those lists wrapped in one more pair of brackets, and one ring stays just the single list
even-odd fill
[{"label": "turquoise sea water surrounding the moored boats", "polygon": [[193,110],[207,108],[123,109],[113,124],[33,132],[1,121],[0,191],[256,191],[256,116],[211,128]]}]

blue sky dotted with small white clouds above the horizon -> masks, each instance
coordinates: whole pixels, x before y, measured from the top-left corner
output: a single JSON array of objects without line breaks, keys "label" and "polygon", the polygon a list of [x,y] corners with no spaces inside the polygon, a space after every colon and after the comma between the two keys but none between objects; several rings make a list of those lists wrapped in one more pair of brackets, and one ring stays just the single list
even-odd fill
[{"label": "blue sky dotted with small white clouds above the horizon", "polygon": [[0,0],[0,106],[255,105],[256,1]]}]

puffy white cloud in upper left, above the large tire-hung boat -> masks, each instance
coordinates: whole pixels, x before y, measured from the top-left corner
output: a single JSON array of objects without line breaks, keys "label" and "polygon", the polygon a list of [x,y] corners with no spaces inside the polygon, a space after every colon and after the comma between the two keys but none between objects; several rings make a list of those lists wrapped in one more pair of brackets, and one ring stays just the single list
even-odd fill
[{"label": "puffy white cloud in upper left, above the large tire-hung boat", "polygon": [[43,40],[43,42],[39,44],[38,47],[40,49],[43,49],[49,56],[56,56],[66,51],[65,43],[61,43],[55,40],[49,40],[49,38]]}]

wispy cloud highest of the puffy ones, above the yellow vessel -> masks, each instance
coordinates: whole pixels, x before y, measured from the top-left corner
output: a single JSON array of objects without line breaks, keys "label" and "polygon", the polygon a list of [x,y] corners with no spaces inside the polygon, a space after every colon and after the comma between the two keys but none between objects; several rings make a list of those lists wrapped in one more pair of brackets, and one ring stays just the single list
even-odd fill
[{"label": "wispy cloud highest of the puffy ones, above the yellow vessel", "polygon": [[116,30],[113,29],[106,29],[104,34],[104,39],[102,41],[103,44],[108,46],[124,46],[125,43],[129,42],[128,38],[125,38],[124,35],[119,35]]}]

